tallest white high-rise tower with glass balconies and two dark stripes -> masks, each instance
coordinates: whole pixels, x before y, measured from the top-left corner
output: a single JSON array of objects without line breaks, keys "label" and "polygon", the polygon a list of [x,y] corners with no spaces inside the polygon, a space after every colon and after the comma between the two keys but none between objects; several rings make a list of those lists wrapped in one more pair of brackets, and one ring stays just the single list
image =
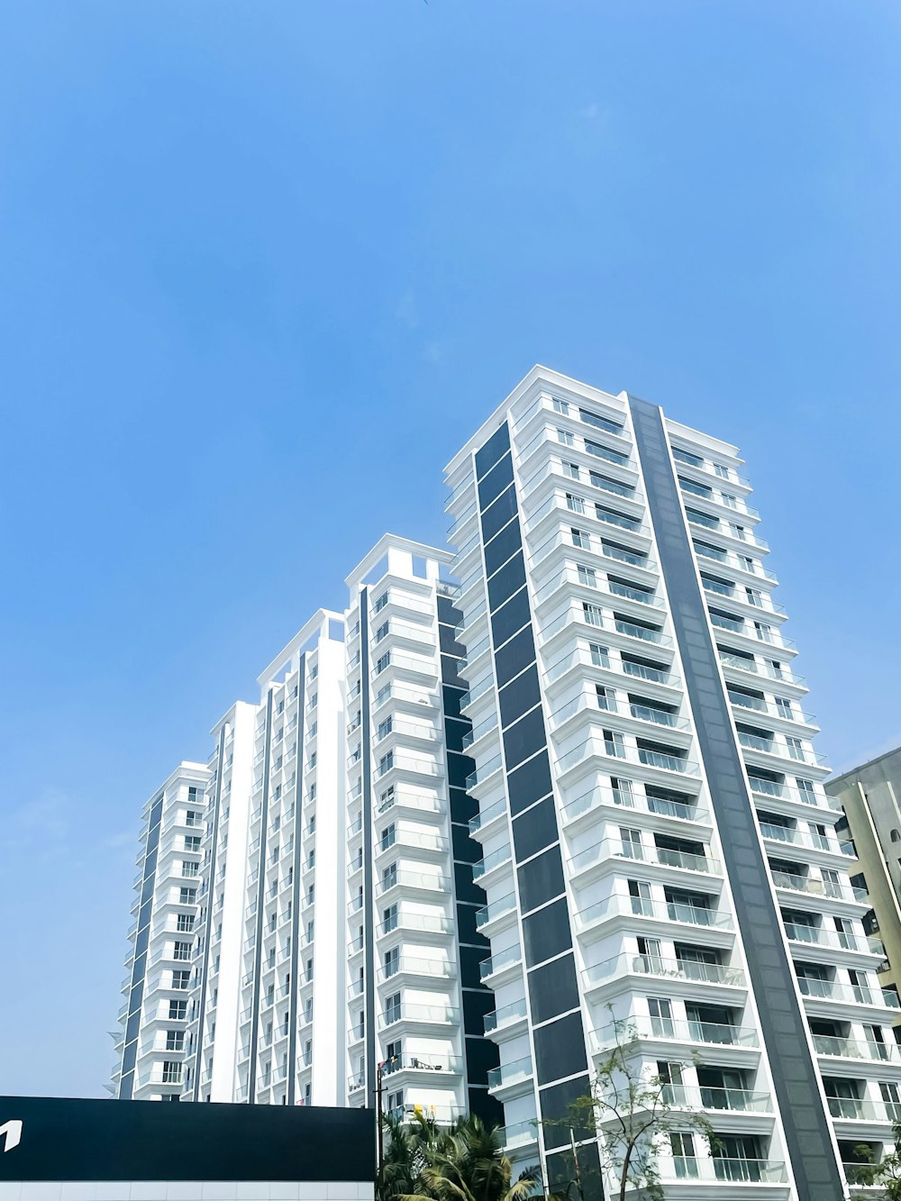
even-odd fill
[{"label": "tallest white high-rise tower with glass balconies and two dark stripes", "polygon": [[[515,1158],[571,1181],[547,1122],[622,1020],[717,1136],[658,1148],[668,1197],[839,1201],[901,1112],[897,997],[740,468],[539,368],[447,468],[490,1091]],[[598,1143],[580,1159],[586,1187]]]}]

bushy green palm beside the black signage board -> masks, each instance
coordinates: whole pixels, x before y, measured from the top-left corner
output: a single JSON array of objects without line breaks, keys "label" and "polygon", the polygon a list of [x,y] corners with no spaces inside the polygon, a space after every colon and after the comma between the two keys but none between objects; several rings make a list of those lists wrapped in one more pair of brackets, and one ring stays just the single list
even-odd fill
[{"label": "bushy green palm beside the black signage board", "polygon": [[539,1184],[537,1171],[513,1179],[499,1128],[487,1127],[475,1115],[458,1118],[447,1130],[419,1118],[413,1131],[413,1159],[419,1164],[408,1176],[416,1187],[401,1191],[388,1185],[386,1177],[382,1201],[526,1201]]}]

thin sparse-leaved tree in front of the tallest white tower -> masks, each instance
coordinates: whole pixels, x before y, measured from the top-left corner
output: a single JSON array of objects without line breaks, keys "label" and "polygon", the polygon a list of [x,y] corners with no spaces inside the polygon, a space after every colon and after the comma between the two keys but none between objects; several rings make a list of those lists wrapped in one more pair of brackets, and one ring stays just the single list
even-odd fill
[{"label": "thin sparse-leaved tree in front of the tallest white tower", "polygon": [[[577,1131],[577,1140],[597,1139],[601,1165],[616,1181],[619,1201],[626,1201],[627,1190],[639,1188],[649,1201],[663,1201],[657,1145],[670,1134],[687,1131],[697,1131],[710,1145],[712,1129],[703,1113],[684,1104],[678,1083],[642,1064],[636,1028],[620,1018],[613,1018],[611,1026],[613,1045],[597,1062],[590,1093],[574,1101],[566,1117],[545,1125]],[[578,1157],[578,1148],[574,1153]],[[565,1149],[561,1155],[566,1161],[573,1152]]]}]

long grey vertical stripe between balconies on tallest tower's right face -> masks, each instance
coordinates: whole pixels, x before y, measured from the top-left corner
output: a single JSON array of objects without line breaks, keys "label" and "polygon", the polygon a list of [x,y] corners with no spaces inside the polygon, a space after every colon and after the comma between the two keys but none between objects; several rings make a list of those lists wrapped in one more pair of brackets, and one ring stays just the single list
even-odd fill
[{"label": "long grey vertical stripe between balconies on tallest tower's right face", "polygon": [[732,728],[663,414],[656,405],[632,396],[629,407],[685,685],[714,813],[723,832],[723,860],[735,897],[798,1196],[800,1201],[841,1201],[845,1190],[810,1053],[807,1023],[798,1000],[754,806]]}]

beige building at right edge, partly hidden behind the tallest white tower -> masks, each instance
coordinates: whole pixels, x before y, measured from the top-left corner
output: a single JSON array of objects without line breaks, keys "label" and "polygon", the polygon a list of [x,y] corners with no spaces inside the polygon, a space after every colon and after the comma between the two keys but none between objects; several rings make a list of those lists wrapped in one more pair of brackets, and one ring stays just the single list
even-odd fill
[{"label": "beige building at right edge, partly hidden behind the tallest white tower", "polygon": [[[841,802],[857,849],[849,868],[872,902],[870,933],[885,946],[879,982],[901,991],[901,747],[830,779],[825,790]],[[897,1024],[897,1023],[896,1023]]]}]

